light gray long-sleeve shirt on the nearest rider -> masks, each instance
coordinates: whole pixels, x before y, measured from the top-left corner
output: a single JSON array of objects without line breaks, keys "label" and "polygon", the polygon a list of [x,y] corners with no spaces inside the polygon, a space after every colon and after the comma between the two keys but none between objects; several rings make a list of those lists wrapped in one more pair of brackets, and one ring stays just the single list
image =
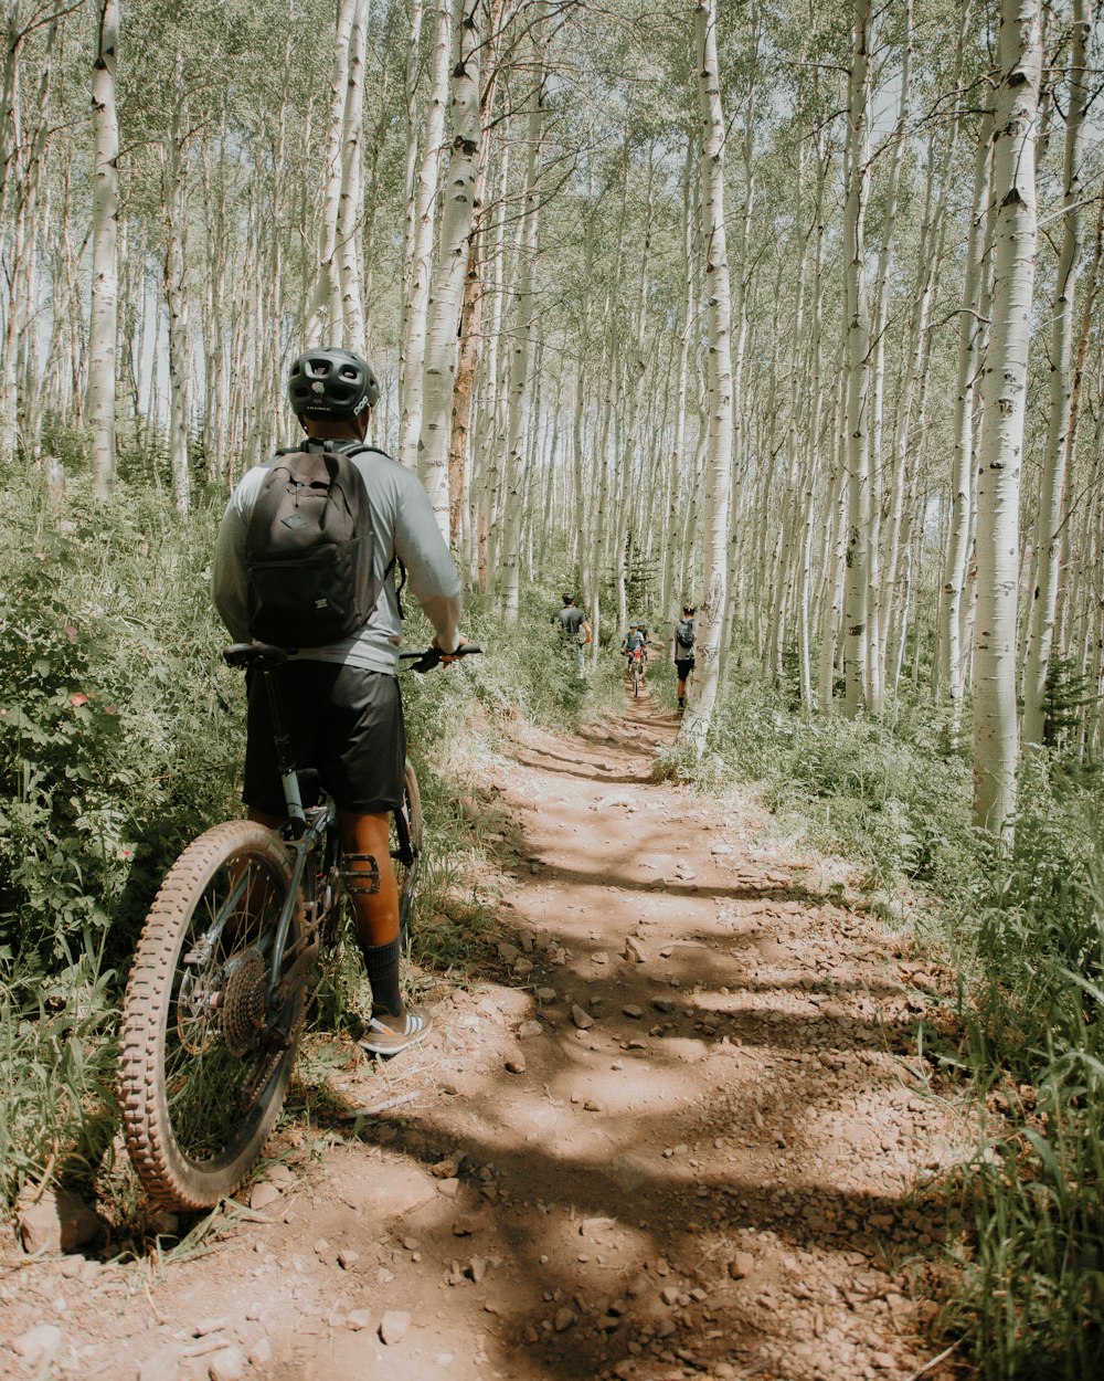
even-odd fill
[{"label": "light gray long-sleeve shirt on the nearest rider", "polygon": [[[328,441],[330,450],[351,450],[355,441]],[[399,666],[403,624],[395,570],[388,572],[397,555],[406,566],[407,590],[414,595],[433,624],[437,642],[446,650],[460,637],[460,576],[440,534],[429,499],[417,475],[396,465],[382,452],[353,456],[364,476],[373,525],[373,566],[382,581],[382,592],[368,621],[339,642],[305,648],[294,656],[306,661],[339,661],[367,671],[392,675]],[[253,507],[272,461],[248,470],[230,496],[215,543],[213,594],[215,608],[237,642],[250,642],[248,573],[246,570],[246,532]]]}]

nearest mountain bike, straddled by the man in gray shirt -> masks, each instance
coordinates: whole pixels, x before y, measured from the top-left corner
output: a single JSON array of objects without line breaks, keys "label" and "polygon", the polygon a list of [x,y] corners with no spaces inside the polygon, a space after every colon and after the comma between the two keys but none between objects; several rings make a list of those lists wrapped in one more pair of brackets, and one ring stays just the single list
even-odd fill
[{"label": "nearest mountain bike, straddled by the man in gray shirt", "polygon": [[[123,1004],[123,1128],[144,1188],[177,1210],[214,1207],[259,1159],[291,1080],[309,975],[337,935],[342,891],[379,889],[378,860],[342,855],[334,801],[316,772],[291,761],[276,677],[287,653],[235,644],[224,657],[265,679],[287,823],[277,834],[226,820],[200,834],[166,874],[138,940]],[[442,660],[436,648],[403,657],[415,671]],[[421,855],[421,795],[407,762],[391,826],[403,946]]]}]

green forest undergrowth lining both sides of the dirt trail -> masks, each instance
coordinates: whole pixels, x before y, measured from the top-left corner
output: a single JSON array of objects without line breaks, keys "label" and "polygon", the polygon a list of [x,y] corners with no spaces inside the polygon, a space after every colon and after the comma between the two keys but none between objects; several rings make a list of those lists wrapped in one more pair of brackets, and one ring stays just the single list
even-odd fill
[{"label": "green forest undergrowth lining both sides of the dirt trail", "polygon": [[[208,561],[213,496],[182,523],[128,487],[55,505],[33,476],[6,494],[0,550],[0,1201],[112,1178],[117,1008],[157,881],[201,829],[237,813],[244,700],[222,666]],[[487,656],[404,677],[436,863],[432,916],[465,865],[465,755],[486,725],[571,729],[618,703],[613,650],[571,674],[549,638],[555,591],[530,587],[508,630],[479,597]],[[411,619],[413,646],[428,631]],[[660,659],[664,663],[664,659]],[[1093,1374],[1104,1358],[1104,851],[1098,775],[1058,751],[1029,764],[1014,847],[970,827],[963,735],[903,702],[891,724],[802,720],[736,653],[701,760],[657,764],[708,793],[734,779],[810,847],[864,870],[865,905],[958,976],[956,1039],[927,1054],[984,1109],[985,1137],[944,1199],[972,1224],[948,1258],[949,1338],[991,1381]],[[673,704],[671,668],[653,693]],[[969,737],[969,731],[963,731]],[[469,925],[425,928],[420,958],[461,964]],[[469,938],[469,936],[468,936]],[[106,1167],[106,1168],[105,1168]]]}]

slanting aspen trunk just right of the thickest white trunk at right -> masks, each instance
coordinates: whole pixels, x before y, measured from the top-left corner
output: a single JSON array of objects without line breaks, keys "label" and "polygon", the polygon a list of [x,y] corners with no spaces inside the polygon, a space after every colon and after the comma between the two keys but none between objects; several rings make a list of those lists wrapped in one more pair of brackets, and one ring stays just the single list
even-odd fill
[{"label": "slanting aspen trunk just right of the thickest white trunk at right", "polygon": [[1092,0],[1074,0],[1074,43],[1070,57],[1070,108],[1065,116],[1063,184],[1065,214],[1058,255],[1058,278],[1050,316],[1050,418],[1046,454],[1039,476],[1039,508],[1035,519],[1035,566],[1031,581],[1031,623],[1024,671],[1024,722],[1021,742],[1043,740],[1043,695],[1054,610],[1058,602],[1058,544],[1063,526],[1065,457],[1074,402],[1074,300],[1081,257],[1081,162],[1087,108],[1086,50],[1093,25]]}]

